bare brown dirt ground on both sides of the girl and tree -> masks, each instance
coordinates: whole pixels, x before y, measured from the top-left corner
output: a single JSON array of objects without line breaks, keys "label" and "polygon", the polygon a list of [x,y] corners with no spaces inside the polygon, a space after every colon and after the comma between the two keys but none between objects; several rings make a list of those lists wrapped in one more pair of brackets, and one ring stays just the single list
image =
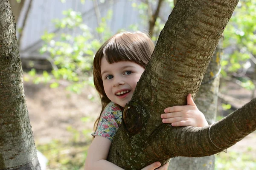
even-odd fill
[{"label": "bare brown dirt ground on both sides of the girl and tree", "polygon": [[[241,107],[250,101],[251,91],[241,89],[235,83],[224,87],[229,89],[222,89],[221,93],[233,107]],[[64,87],[52,89],[49,85],[24,82],[24,90],[36,144],[46,144],[53,139],[68,141],[73,135],[67,131],[69,126],[92,132],[93,122],[101,110],[94,88],[84,88],[79,95],[66,91]],[[91,101],[88,95],[94,95],[96,99]],[[90,121],[82,122],[82,117],[89,117]],[[228,150],[247,152],[256,159],[256,133],[246,136]]]}]

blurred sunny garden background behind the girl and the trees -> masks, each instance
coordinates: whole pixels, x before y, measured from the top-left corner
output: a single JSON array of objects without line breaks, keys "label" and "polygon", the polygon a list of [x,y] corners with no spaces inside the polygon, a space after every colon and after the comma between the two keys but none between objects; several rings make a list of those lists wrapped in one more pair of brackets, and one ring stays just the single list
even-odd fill
[{"label": "blurred sunny garden background behind the girl and the trees", "polygon": [[[93,56],[118,31],[156,43],[173,0],[10,0],[37,149],[49,170],[82,170],[101,111]],[[224,31],[217,119],[256,96],[256,1],[240,0]],[[216,170],[256,169],[256,133],[216,155]]]}]

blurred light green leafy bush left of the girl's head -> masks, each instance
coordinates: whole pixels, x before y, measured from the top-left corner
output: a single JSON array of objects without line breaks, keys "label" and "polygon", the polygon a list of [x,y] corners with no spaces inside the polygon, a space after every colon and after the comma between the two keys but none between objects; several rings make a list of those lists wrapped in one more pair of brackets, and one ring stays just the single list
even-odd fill
[{"label": "blurred light green leafy bush left of the girl's head", "polygon": [[[55,19],[55,27],[62,33],[48,33],[42,36],[45,44],[40,49],[41,54],[48,54],[49,62],[52,64],[52,74],[47,71],[42,76],[36,76],[35,69],[30,71],[34,82],[51,82],[51,87],[56,88],[61,80],[70,82],[67,89],[80,93],[84,85],[93,85],[92,62],[96,50],[101,41],[93,36],[91,29],[83,23],[80,12],[71,9],[63,11],[64,18]],[[111,14],[109,14],[111,16]],[[106,18],[102,18],[100,26],[96,28],[98,33],[107,30]],[[106,31],[109,33],[109,31]],[[104,34],[107,39],[110,34]]]}]

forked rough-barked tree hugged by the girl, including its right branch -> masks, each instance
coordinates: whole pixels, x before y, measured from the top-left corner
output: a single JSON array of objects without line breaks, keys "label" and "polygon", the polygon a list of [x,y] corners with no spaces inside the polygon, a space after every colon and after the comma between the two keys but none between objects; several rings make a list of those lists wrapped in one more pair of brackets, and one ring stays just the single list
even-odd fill
[{"label": "forked rough-barked tree hugged by the girl, including its right branch", "polygon": [[141,169],[176,156],[209,156],[256,129],[256,99],[208,127],[172,127],[160,119],[164,108],[185,105],[187,94],[197,94],[237,3],[238,0],[178,1],[131,102],[125,106],[109,161],[124,169]]}]

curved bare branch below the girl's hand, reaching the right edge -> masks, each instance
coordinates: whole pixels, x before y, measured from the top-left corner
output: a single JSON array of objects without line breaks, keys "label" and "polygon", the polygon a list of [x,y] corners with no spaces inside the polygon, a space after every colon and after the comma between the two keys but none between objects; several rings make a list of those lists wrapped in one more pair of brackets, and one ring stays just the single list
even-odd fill
[{"label": "curved bare branch below the girl's hand, reaching the right edge", "polygon": [[[165,140],[161,142],[153,141],[152,146],[154,147],[152,148],[157,155],[160,155],[161,153],[156,150],[158,148],[157,145],[170,145],[169,148],[162,148],[164,154],[170,157],[213,155],[236,144],[236,142],[256,130],[255,110],[256,99],[252,99],[242,108],[208,127],[163,126],[161,133],[152,136],[152,138],[161,136]],[[163,134],[169,134],[165,131],[171,134],[163,136]],[[189,147],[184,147],[185,145]]]}]

